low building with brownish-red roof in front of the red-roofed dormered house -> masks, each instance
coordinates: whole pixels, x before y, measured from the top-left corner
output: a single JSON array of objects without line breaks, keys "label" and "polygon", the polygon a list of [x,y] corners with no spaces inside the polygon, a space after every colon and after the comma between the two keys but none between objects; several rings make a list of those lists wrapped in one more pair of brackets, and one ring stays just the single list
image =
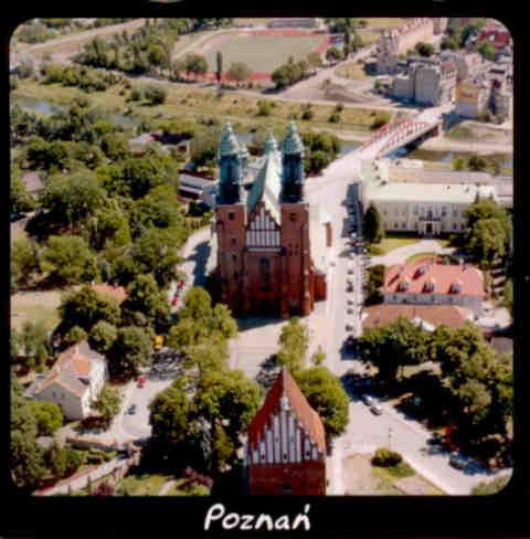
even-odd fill
[{"label": "low building with brownish-red roof in front of the red-roofed dormered house", "polygon": [[362,311],[362,328],[372,329],[393,324],[404,317],[427,331],[437,326],[458,328],[466,321],[473,321],[473,313],[459,305],[407,305],[379,304],[364,307]]}]

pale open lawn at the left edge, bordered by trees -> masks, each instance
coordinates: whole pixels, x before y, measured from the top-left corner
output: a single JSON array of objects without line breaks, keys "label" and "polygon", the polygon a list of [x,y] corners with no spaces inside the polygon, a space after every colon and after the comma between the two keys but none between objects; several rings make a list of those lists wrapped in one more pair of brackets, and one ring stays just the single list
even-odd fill
[{"label": "pale open lawn at the left edge, bordered by trees", "polygon": [[53,330],[59,324],[61,292],[24,292],[11,296],[11,326],[18,330],[24,321],[42,321],[46,330]]}]

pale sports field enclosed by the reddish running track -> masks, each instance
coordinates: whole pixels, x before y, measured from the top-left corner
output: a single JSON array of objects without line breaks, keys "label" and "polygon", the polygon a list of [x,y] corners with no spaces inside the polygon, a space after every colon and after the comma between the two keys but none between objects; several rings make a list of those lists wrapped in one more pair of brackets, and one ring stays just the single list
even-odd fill
[{"label": "pale sports field enclosed by the reddish running track", "polygon": [[276,35],[224,35],[206,41],[201,46],[210,71],[215,71],[215,55],[223,54],[224,68],[243,62],[253,72],[271,73],[285,64],[290,56],[295,62],[306,57],[322,41],[321,35],[285,38]]}]

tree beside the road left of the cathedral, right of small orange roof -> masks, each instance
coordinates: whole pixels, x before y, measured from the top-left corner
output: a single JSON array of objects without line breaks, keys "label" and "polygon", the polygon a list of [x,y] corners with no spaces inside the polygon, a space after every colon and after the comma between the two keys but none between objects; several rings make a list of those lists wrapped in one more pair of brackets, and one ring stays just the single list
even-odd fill
[{"label": "tree beside the road left of the cathedral, right of small orange roof", "polygon": [[127,287],[127,299],[121,304],[121,311],[139,311],[146,316],[149,324],[160,329],[167,328],[169,318],[169,302],[165,292],[160,290],[152,274],[138,275]]}]

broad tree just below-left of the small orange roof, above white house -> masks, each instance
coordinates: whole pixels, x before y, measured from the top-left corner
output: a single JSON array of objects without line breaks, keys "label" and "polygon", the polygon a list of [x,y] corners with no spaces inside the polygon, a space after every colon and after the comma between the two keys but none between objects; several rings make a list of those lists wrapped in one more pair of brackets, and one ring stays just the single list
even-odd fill
[{"label": "broad tree just below-left of the small orange roof, above white house", "polygon": [[114,297],[98,294],[88,285],[66,295],[61,302],[59,311],[60,331],[63,334],[74,326],[92,332],[99,321],[116,326],[120,317],[118,302]]}]

